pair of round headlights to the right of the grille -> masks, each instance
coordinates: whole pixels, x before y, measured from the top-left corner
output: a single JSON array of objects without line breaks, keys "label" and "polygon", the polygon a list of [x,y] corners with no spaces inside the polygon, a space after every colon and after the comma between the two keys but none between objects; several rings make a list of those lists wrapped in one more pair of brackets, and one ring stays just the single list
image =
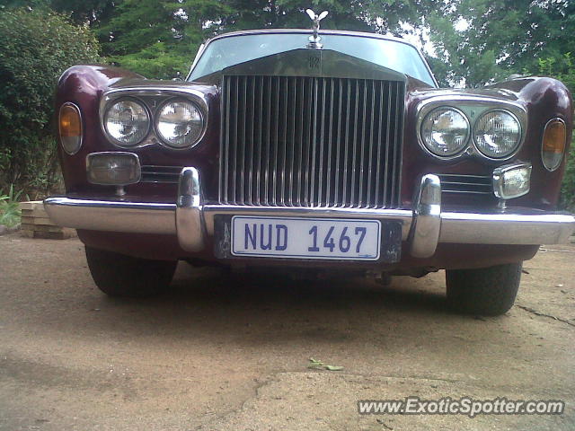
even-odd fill
[{"label": "pair of round headlights to the right of the grille", "polygon": [[420,123],[420,140],[429,153],[455,157],[474,148],[489,159],[504,159],[521,143],[521,123],[509,110],[482,112],[473,123],[462,110],[440,106]]}]

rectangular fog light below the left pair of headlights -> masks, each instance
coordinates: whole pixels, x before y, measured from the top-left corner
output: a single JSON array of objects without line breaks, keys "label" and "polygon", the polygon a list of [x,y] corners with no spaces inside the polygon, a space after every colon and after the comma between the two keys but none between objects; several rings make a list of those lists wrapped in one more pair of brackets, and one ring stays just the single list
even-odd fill
[{"label": "rectangular fog light below the left pair of headlights", "polygon": [[88,181],[104,186],[127,186],[140,180],[142,171],[137,154],[92,153],[86,157]]}]

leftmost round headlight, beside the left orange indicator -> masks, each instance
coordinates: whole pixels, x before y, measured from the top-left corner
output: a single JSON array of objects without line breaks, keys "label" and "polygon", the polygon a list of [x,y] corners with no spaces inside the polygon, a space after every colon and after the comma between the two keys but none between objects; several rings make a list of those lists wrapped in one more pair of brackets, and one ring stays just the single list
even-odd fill
[{"label": "leftmost round headlight, beside the left orange indicator", "polygon": [[150,116],[138,101],[116,101],[106,110],[104,128],[120,146],[134,146],[142,142],[150,129]]}]

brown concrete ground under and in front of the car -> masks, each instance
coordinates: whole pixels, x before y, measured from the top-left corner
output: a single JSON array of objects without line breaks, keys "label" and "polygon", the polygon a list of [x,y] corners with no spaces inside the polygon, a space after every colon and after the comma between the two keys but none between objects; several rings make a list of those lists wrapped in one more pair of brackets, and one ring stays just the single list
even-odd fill
[{"label": "brown concrete ground under and in front of the car", "polygon": [[[2,430],[575,429],[575,248],[526,262],[498,318],[443,273],[289,282],[181,264],[153,300],[93,285],[77,240],[0,237]],[[314,357],[341,371],[307,368]],[[561,416],[362,416],[408,395],[564,400]]]}]

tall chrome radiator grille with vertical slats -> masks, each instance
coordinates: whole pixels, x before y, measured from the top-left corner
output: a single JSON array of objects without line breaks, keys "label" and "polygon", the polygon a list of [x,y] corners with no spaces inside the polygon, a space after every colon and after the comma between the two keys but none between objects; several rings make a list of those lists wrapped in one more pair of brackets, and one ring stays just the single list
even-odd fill
[{"label": "tall chrome radiator grille with vertical slats", "polygon": [[399,205],[403,82],[224,76],[219,201]]}]

